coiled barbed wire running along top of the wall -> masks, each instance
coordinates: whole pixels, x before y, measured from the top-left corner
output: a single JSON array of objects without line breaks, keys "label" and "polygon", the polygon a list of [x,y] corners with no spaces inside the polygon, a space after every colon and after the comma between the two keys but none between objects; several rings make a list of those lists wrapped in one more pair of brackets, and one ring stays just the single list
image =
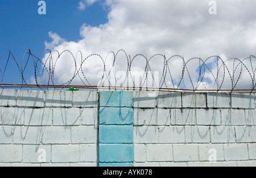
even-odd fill
[{"label": "coiled barbed wire running along top of the wall", "polygon": [[[123,57],[120,62],[118,56],[121,53]],[[67,73],[70,78],[60,80],[63,73],[59,72],[59,69],[66,62],[62,61],[61,64],[60,61],[67,60],[65,55],[69,55],[68,61],[72,61],[73,66],[69,63],[64,65],[69,69]],[[93,63],[86,65],[90,59],[93,59]],[[84,58],[81,51],[73,55],[69,50],[59,52],[49,49],[35,56],[28,49],[24,52],[21,64],[19,64],[13,53],[8,50],[0,57],[0,87],[44,90],[65,89],[72,86],[90,90],[254,93],[256,90],[255,59],[256,57],[252,55],[242,60],[238,58],[224,60],[220,56],[210,56],[205,60],[200,57],[185,60],[183,56],[174,55],[167,58],[162,54],[156,54],[150,58],[142,54],[131,57],[123,49],[117,53],[109,52],[105,59],[98,54]],[[93,70],[92,65],[101,67],[101,69]],[[9,82],[5,81],[6,73],[10,72],[8,68],[11,68],[11,72],[15,71],[15,75],[19,75],[19,81],[10,80],[9,77],[7,77]],[[93,72],[88,72],[90,68]],[[121,78],[118,74],[119,68],[123,69]],[[33,74],[26,78],[26,73],[31,72]],[[10,84],[11,82],[13,84]]]}]

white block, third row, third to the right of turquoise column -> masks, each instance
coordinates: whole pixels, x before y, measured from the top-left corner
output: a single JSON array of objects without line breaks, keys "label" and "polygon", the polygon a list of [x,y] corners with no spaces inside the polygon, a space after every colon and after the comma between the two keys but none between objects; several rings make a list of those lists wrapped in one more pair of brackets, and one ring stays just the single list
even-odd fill
[{"label": "white block, third row, third to the right of turquoise column", "polygon": [[209,126],[185,126],[186,143],[210,143]]}]

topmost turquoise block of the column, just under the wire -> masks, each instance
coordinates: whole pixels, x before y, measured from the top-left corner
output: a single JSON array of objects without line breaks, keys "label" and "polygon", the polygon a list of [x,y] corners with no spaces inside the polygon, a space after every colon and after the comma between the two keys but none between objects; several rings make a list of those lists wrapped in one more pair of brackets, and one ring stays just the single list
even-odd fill
[{"label": "topmost turquoise block of the column, just under the wire", "polygon": [[100,92],[101,107],[133,107],[133,92]]}]

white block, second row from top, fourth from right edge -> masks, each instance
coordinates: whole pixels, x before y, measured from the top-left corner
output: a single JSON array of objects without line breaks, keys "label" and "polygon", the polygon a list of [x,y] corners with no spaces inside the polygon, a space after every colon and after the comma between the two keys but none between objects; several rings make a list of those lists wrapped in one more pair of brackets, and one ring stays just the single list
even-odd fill
[{"label": "white block, second row from top, fourth from right edge", "polygon": [[171,125],[196,125],[195,109],[172,109]]}]

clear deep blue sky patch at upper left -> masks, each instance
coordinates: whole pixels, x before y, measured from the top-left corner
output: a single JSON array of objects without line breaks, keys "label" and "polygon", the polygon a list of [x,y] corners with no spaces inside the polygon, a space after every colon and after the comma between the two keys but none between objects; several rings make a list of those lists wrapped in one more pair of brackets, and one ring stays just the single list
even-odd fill
[{"label": "clear deep blue sky patch at upper left", "polygon": [[68,41],[81,39],[82,24],[98,26],[107,22],[108,11],[96,2],[78,10],[79,0],[53,0],[46,2],[46,15],[38,14],[36,0],[1,0],[0,51],[10,50],[15,56],[23,56],[26,49],[35,55],[44,50],[44,42],[50,41],[48,32],[56,32]]}]

